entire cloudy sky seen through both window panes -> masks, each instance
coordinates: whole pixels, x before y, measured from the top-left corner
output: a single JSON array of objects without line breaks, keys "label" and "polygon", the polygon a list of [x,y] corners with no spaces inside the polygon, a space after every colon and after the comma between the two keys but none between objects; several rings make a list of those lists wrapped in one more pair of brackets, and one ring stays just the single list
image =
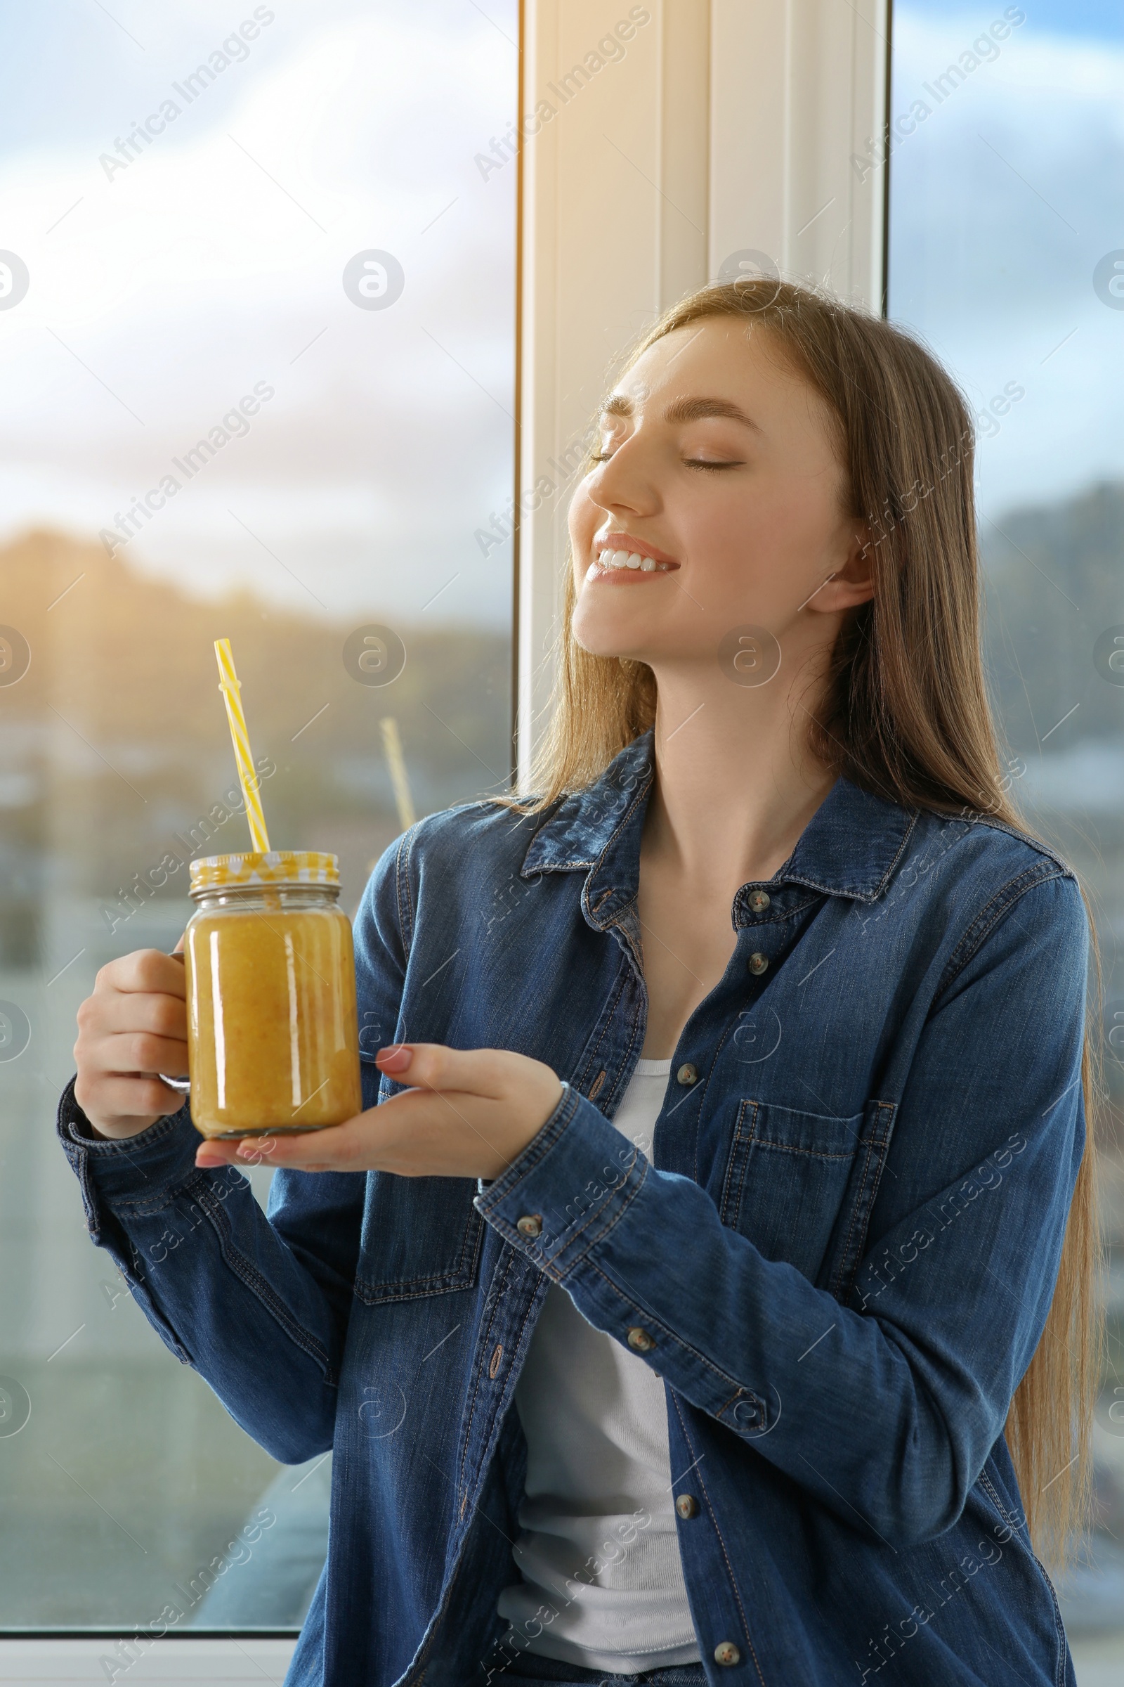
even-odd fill
[{"label": "entire cloudy sky seen through both window panes", "polygon": [[[925,94],[1004,10],[998,54]],[[474,160],[514,111],[514,37],[516,0],[0,0],[0,250],[29,272],[0,309],[0,542],[110,533],[174,474],[135,567],[506,624],[509,547],[475,535],[509,494],[516,172]],[[1021,391],[984,425],[981,509],[1119,477],[1124,310],[1092,273],[1124,248],[1124,7],[910,0],[893,40],[891,113],[932,111],[890,164],[891,314],[977,412]],[[388,309],[344,292],[369,250],[403,270]]]}]

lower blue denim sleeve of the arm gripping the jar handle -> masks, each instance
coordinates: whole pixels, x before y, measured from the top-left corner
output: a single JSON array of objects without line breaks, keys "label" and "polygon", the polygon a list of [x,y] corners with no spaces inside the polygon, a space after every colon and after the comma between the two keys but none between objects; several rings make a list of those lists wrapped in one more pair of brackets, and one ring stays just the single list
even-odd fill
[{"label": "lower blue denim sleeve of the arm gripping the jar handle", "polygon": [[195,1166],[201,1135],[185,1107],[135,1137],[99,1139],[72,1083],[59,1139],[89,1235],[165,1346],[275,1458],[295,1464],[325,1451],[362,1178],[305,1178],[303,1206],[295,1194],[271,1223],[238,1166]]}]

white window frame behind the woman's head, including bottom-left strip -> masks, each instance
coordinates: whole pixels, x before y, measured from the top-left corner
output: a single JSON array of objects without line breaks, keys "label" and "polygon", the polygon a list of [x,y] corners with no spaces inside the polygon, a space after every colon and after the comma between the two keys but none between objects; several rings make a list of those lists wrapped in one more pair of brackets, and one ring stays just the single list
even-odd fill
[{"label": "white window frame behind the woman's head, including bottom-left strip", "polygon": [[[624,56],[561,83],[647,12]],[[627,30],[625,30],[627,32]],[[519,184],[516,746],[529,778],[554,676],[566,493],[613,364],[741,250],[883,309],[890,0],[524,0]],[[553,91],[551,91],[553,89]],[[565,98],[563,98],[565,96]],[[538,482],[538,488],[536,488]],[[548,484],[549,482],[549,488]],[[115,1636],[0,1640],[0,1684],[104,1682]],[[280,1680],[293,1640],[162,1640],[123,1677]],[[195,1675],[195,1668],[199,1674]]]}]

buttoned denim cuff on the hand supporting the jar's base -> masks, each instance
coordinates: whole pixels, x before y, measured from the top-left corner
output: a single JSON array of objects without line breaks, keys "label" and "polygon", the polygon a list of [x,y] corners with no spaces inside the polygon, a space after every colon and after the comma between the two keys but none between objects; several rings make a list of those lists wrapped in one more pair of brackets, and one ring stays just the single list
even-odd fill
[{"label": "buttoned denim cuff on the hand supporting the jar's base", "polygon": [[640,1149],[563,1083],[558,1107],[507,1171],[492,1183],[477,1178],[474,1206],[561,1282],[624,1216],[647,1169]]}]

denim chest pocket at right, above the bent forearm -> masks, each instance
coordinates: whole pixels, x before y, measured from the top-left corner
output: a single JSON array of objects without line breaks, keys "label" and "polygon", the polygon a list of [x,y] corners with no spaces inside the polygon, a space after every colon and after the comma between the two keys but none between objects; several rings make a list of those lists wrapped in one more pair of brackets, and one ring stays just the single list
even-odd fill
[{"label": "denim chest pocket at right, above the bent forearm", "polygon": [[741,1102],[720,1215],[768,1260],[843,1301],[863,1255],[890,1145],[893,1105],[849,1118]]}]

